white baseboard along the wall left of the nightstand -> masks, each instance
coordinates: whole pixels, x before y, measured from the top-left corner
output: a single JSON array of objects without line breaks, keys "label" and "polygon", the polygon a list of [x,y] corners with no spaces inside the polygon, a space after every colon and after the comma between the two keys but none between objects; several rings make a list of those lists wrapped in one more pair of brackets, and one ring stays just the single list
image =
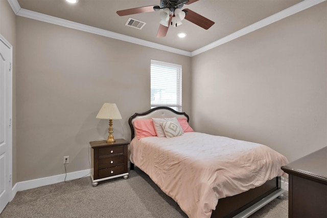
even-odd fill
[{"label": "white baseboard along the wall left of the nightstand", "polygon": [[90,169],[85,169],[76,172],[69,172],[67,173],[67,175],[61,174],[52,177],[45,177],[35,180],[28,180],[24,182],[17,182],[12,188],[12,199],[15,197],[17,191],[22,191],[31,188],[41,187],[44,185],[51,185],[51,184],[63,182],[65,181],[65,176],[66,176],[66,181],[69,181],[69,180],[75,180],[82,177],[90,176],[89,174],[90,174]]}]

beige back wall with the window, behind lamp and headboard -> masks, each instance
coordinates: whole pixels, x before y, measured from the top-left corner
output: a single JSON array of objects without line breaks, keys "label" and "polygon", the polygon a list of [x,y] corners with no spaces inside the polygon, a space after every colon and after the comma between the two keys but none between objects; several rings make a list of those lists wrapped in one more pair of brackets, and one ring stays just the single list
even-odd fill
[{"label": "beige back wall with the window, behind lamp and headboard", "polygon": [[96,119],[116,103],[114,137],[130,140],[128,118],[150,109],[150,60],[182,65],[183,110],[191,113],[191,58],[17,17],[18,181],[89,169],[88,142],[107,137]]}]

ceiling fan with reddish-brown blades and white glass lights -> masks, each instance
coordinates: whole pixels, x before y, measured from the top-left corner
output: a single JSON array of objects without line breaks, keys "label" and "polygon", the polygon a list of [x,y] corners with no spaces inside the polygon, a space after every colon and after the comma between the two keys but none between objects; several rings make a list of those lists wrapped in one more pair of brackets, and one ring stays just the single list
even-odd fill
[{"label": "ceiling fan with reddish-brown blades and white glass lights", "polygon": [[183,19],[189,20],[193,24],[202,27],[203,29],[209,29],[215,24],[214,21],[201,16],[198,13],[190,9],[182,9],[184,5],[190,5],[199,0],[160,0],[160,6],[151,5],[139,8],[131,8],[126,10],[117,11],[119,16],[126,16],[131,14],[139,14],[145,12],[159,11],[160,13],[160,26],[157,33],[157,37],[165,37],[169,26],[179,26]]}]

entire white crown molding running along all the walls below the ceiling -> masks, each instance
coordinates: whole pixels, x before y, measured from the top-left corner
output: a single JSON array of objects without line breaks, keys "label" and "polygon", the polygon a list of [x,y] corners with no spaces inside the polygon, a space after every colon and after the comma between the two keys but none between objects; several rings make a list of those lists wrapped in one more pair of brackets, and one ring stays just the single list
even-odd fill
[{"label": "entire white crown molding running along all the walls below the ceiling", "polygon": [[127,35],[123,35],[123,34],[119,34],[119,33],[115,33],[115,32],[111,32],[108,30],[103,30],[103,29],[99,29],[96,27],[91,27],[91,26],[87,26],[84,24],[79,24],[73,21],[69,21],[69,20],[65,20],[65,19],[61,19],[58,17],[54,17],[54,16],[50,16],[50,15],[46,15],[46,14],[42,14],[42,13],[38,13],[38,12],[34,12],[34,11],[30,11],[30,10],[26,10],[26,9],[22,9],[20,8],[20,5],[18,3],[17,0],[8,0],[11,8],[13,9],[14,13],[18,16],[23,16],[23,17],[27,17],[27,18],[31,18],[31,19],[36,19],[36,20],[40,20],[46,23],[50,23],[50,24],[55,24],[55,25],[59,25],[59,26],[63,26],[63,27],[67,27],[67,28],[72,28],[72,29],[76,29],[76,30],[80,30],[80,31],[84,31],[84,32],[89,32],[89,33],[93,33],[93,34],[97,34],[97,35],[101,35],[101,36],[105,36],[105,37],[109,37],[109,38],[114,38],[114,39],[118,39],[118,40],[123,40],[123,41],[127,41],[127,42],[131,42],[131,43],[135,43],[137,45],[141,45],[141,46],[146,46],[146,47],[150,47],[153,49],[159,49],[159,50],[163,50],[163,51],[167,51],[167,52],[172,52],[172,53],[176,53],[176,54],[180,54],[180,55],[185,55],[185,56],[189,56],[189,57],[193,57],[195,55],[198,55],[202,52],[206,52],[208,50],[211,50],[213,48],[216,48],[218,46],[223,45],[224,43],[231,41],[233,39],[239,38],[243,35],[246,35],[250,32],[253,32],[255,30],[258,30],[260,28],[263,28],[265,26],[268,26],[272,23],[275,23],[278,20],[281,20],[285,17],[291,16],[297,12],[300,12],[302,10],[308,9],[312,6],[315,6],[319,3],[325,2],[327,0],[304,0],[296,5],[293,5],[283,11],[277,12],[265,19],[262,19],[250,26],[247,26],[239,31],[236,31],[228,36],[225,36],[217,41],[214,41],[212,43],[209,43],[208,45],[197,49],[193,52],[188,52],[188,51],[184,51],[184,50],[180,50],[180,49],[176,49],[176,48],[172,48],[169,46],[164,46],[164,45],[160,45],[158,43],[154,43],[154,42],[150,42],[150,41],[146,41],[143,39],[139,39],[139,38],[135,38],[135,37],[131,37],[131,36],[127,36]]}]

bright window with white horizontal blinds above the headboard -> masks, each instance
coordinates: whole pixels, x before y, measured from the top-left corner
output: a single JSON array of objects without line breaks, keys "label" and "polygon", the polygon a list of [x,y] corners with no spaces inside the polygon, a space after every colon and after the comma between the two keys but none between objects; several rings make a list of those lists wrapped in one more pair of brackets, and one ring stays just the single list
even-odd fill
[{"label": "bright window with white horizontal blinds above the headboard", "polygon": [[182,66],[151,60],[151,108],[157,106],[182,111]]}]

